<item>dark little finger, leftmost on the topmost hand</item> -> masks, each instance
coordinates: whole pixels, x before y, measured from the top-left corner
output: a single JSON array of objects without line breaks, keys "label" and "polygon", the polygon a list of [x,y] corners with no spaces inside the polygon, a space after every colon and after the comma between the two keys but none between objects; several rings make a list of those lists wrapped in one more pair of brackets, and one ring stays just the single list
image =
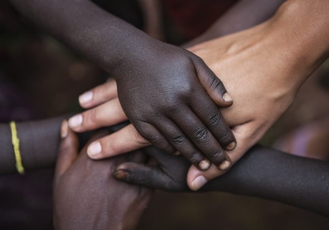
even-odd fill
[{"label": "dark little finger, leftmost on the topmost hand", "polygon": [[174,154],[175,148],[168,142],[165,136],[159,132],[153,125],[147,122],[137,122],[134,124],[139,134],[148,140],[154,146],[166,151],[168,154]]}]

